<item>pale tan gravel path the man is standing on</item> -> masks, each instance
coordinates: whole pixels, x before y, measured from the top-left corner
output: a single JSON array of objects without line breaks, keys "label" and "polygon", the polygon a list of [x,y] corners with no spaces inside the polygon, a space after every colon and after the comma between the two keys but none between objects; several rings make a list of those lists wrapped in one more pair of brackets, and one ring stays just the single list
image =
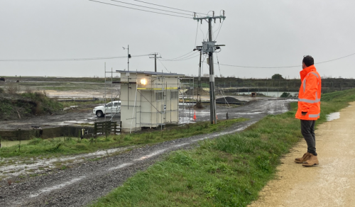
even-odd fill
[{"label": "pale tan gravel path the man is standing on", "polygon": [[355,206],[355,102],[340,111],[340,118],[319,125],[316,134],[318,167],[302,167],[293,160],[307,150],[304,140],[286,155],[275,180],[249,205]]}]

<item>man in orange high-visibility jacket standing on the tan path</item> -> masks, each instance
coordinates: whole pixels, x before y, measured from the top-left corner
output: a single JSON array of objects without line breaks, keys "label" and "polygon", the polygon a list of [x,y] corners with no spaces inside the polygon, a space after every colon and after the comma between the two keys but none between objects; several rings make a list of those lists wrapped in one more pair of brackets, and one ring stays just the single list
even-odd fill
[{"label": "man in orange high-visibility jacket standing on the tan path", "polygon": [[305,55],[302,60],[301,86],[298,93],[298,109],[296,118],[301,121],[301,133],[307,142],[307,152],[295,162],[305,167],[320,164],[315,151],[315,121],[320,118],[320,95],[322,80],[315,68],[315,60]]}]

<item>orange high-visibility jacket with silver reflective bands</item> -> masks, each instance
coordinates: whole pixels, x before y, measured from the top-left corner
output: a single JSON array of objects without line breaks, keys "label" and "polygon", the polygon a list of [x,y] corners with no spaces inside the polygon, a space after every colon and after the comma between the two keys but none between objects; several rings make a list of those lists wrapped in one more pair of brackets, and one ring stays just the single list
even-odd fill
[{"label": "orange high-visibility jacket with silver reflective bands", "polygon": [[[306,67],[300,72],[301,86],[298,92],[298,109],[296,118],[302,120],[317,120],[320,118],[320,93],[322,80],[315,65]],[[307,112],[302,115],[302,112]]]}]

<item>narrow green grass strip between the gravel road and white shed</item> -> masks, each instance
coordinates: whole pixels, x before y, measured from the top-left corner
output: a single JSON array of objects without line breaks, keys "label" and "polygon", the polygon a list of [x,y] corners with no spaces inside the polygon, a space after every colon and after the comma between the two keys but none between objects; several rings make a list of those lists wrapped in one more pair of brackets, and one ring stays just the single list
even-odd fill
[{"label": "narrow green grass strip between the gravel road and white shed", "polygon": [[37,157],[76,155],[113,147],[124,147],[130,145],[146,145],[166,140],[187,138],[192,135],[213,133],[230,127],[236,122],[246,121],[244,118],[219,121],[217,125],[210,125],[208,122],[195,123],[190,125],[175,126],[167,130],[154,130],[148,133],[132,133],[126,135],[111,135],[107,138],[64,138],[56,140],[33,139],[26,145],[14,145],[12,147],[0,148],[0,157]]}]

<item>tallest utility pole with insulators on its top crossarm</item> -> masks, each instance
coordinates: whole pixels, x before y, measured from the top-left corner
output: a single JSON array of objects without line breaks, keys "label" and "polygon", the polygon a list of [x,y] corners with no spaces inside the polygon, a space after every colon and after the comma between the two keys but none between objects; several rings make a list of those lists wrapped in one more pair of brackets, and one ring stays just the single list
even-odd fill
[{"label": "tallest utility pole with insulators on its top crossarm", "polygon": [[[213,40],[212,38],[212,20],[214,22],[216,19],[219,18],[219,21],[222,21],[226,18],[224,16],[224,11],[223,15],[221,16],[214,16],[214,11],[213,11],[213,16],[206,16],[206,17],[194,17],[195,20],[201,21],[206,20],[208,21],[208,34],[209,34],[209,41],[208,42],[202,42],[202,52],[208,54],[208,64],[209,64],[209,107],[210,107],[210,112],[209,112],[209,118],[212,124],[217,124],[217,113],[216,113],[216,95],[215,95],[215,85],[214,85],[214,62],[213,62],[213,52],[216,49],[220,49],[220,46],[224,45],[215,45],[216,41]],[[198,47],[197,47],[198,48]]]}]

